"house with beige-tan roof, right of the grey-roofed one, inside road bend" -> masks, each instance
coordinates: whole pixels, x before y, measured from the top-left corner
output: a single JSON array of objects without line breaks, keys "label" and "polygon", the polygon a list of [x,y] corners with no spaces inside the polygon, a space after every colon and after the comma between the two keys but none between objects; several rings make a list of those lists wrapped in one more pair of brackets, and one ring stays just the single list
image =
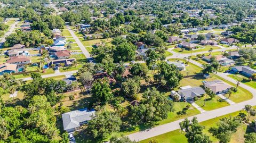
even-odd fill
[{"label": "house with beige-tan roof, right of the grey-roofed one, inside road bend", "polygon": [[214,80],[204,82],[204,88],[211,89],[214,94],[226,94],[231,86],[221,80]]}]

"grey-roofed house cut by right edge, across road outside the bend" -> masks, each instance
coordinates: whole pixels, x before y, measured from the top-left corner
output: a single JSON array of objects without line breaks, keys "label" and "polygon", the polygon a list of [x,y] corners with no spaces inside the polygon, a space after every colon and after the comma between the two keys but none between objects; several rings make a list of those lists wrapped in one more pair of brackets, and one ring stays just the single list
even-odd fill
[{"label": "grey-roofed house cut by right edge, across road outside the bend", "polygon": [[243,74],[245,77],[251,78],[252,74],[256,73],[256,70],[250,68],[250,66],[234,66],[231,71],[235,73]]}]

